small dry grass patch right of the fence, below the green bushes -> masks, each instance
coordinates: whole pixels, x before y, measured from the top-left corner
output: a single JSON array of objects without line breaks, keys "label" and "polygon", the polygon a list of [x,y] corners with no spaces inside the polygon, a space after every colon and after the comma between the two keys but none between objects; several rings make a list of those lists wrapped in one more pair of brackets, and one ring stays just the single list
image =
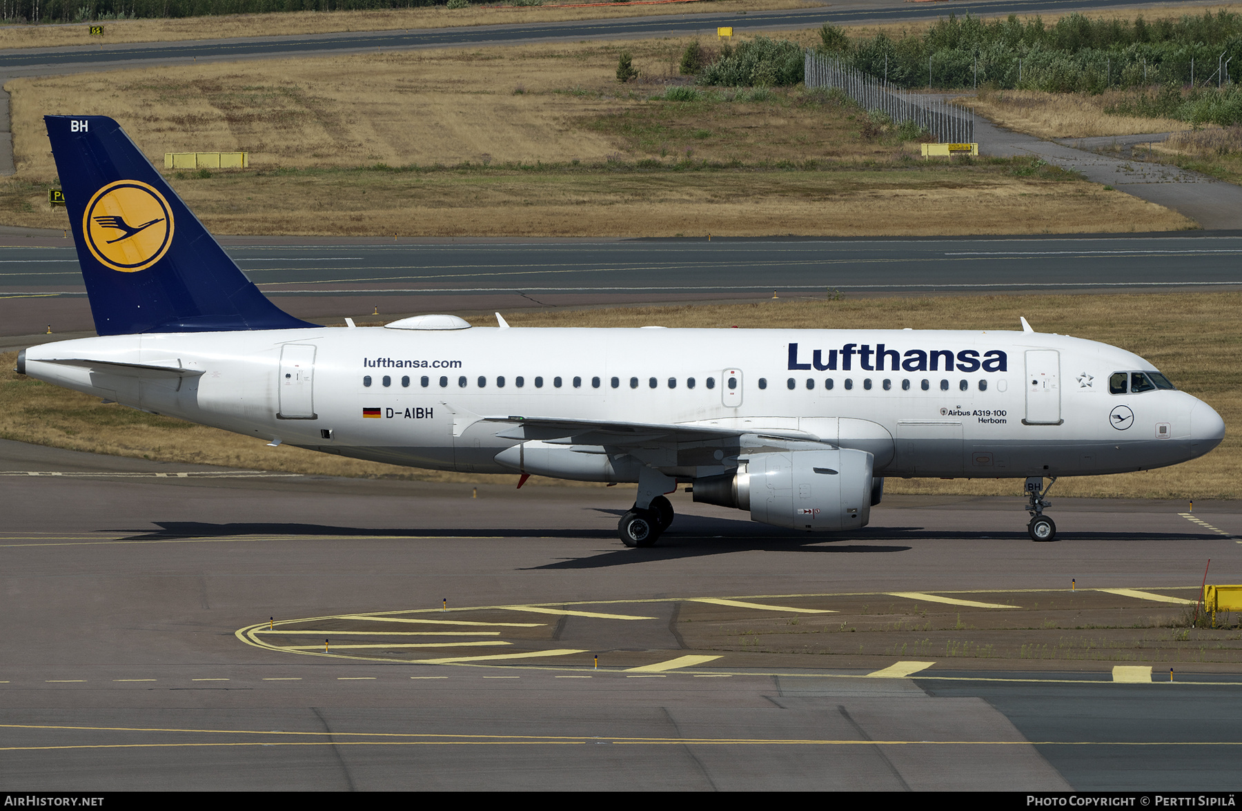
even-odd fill
[{"label": "small dry grass patch right of the fence, below the green bushes", "polygon": [[1138,133],[1180,132],[1186,122],[1172,118],[1109,116],[1104,108],[1134,91],[1108,91],[1099,96],[1084,93],[1043,93],[1041,91],[980,91],[977,98],[961,98],[1001,127],[1038,138],[1094,138],[1097,135],[1134,135]]}]

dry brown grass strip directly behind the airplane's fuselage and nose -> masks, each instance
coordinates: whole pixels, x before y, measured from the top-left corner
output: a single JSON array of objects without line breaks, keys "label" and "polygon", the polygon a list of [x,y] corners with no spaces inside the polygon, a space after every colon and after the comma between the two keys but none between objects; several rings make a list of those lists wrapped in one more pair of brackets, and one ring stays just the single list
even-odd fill
[{"label": "dry brown grass strip directly behind the airplane's fuselage and nose", "polygon": [[[1238,498],[1242,487],[1242,294],[994,296],[856,299],[779,299],[756,304],[645,307],[605,310],[524,310],[507,314],[514,327],[733,327],[1013,329],[1018,315],[1041,332],[1123,347],[1164,370],[1177,386],[1206,400],[1230,426],[1208,456],[1171,468],[1119,476],[1066,478],[1056,493],[1125,498]],[[493,324],[493,317],[472,319]],[[343,460],[101,405],[98,400],[19,378],[14,354],[0,355],[0,437],[175,462],[334,476],[402,476],[436,481],[512,481]],[[1017,494],[1012,481],[892,479],[892,493]]]}]

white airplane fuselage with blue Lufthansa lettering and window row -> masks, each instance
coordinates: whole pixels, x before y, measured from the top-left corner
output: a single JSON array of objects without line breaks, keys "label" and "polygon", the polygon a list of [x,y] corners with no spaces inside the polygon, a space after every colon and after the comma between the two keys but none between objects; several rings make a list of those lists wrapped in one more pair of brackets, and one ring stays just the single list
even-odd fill
[{"label": "white airplane fuselage with blue Lufthansa lettering and window row", "polygon": [[[502,438],[507,425],[481,417],[805,437],[869,451],[876,476],[905,477],[1146,469],[1223,436],[1185,392],[1110,394],[1110,375],[1155,371],[1138,355],[1043,333],[317,328],[87,338],[34,347],[25,364],[40,380],[265,441],[595,481],[636,478],[602,450]],[[642,462],[678,478],[722,473],[708,451],[652,447]]]}]

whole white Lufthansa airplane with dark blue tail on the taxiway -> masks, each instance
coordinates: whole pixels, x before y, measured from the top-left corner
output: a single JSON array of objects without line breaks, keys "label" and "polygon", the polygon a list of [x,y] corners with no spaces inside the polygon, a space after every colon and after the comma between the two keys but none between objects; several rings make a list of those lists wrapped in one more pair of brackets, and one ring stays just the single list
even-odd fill
[{"label": "whole white Lufthansa airplane with dark blue tail on the taxiway", "polygon": [[[47,116],[96,338],[17,371],[270,445],[410,467],[636,483],[804,532],[866,527],[886,477],[1022,478],[1033,540],[1062,476],[1200,457],[1225,424],[1143,358],[1022,330],[312,324],[268,301],[122,128]],[[118,233],[123,235],[118,237]],[[1045,484],[1045,479],[1048,479]]]}]

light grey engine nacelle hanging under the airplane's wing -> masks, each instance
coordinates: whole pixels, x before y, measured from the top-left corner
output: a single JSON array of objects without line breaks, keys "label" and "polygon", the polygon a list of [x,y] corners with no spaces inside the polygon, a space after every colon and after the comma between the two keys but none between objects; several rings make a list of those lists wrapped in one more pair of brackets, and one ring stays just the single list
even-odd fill
[{"label": "light grey engine nacelle hanging under the airplane's wing", "polygon": [[693,493],[765,524],[837,532],[871,520],[872,468],[871,453],[850,448],[755,453],[735,473],[696,479]]}]

